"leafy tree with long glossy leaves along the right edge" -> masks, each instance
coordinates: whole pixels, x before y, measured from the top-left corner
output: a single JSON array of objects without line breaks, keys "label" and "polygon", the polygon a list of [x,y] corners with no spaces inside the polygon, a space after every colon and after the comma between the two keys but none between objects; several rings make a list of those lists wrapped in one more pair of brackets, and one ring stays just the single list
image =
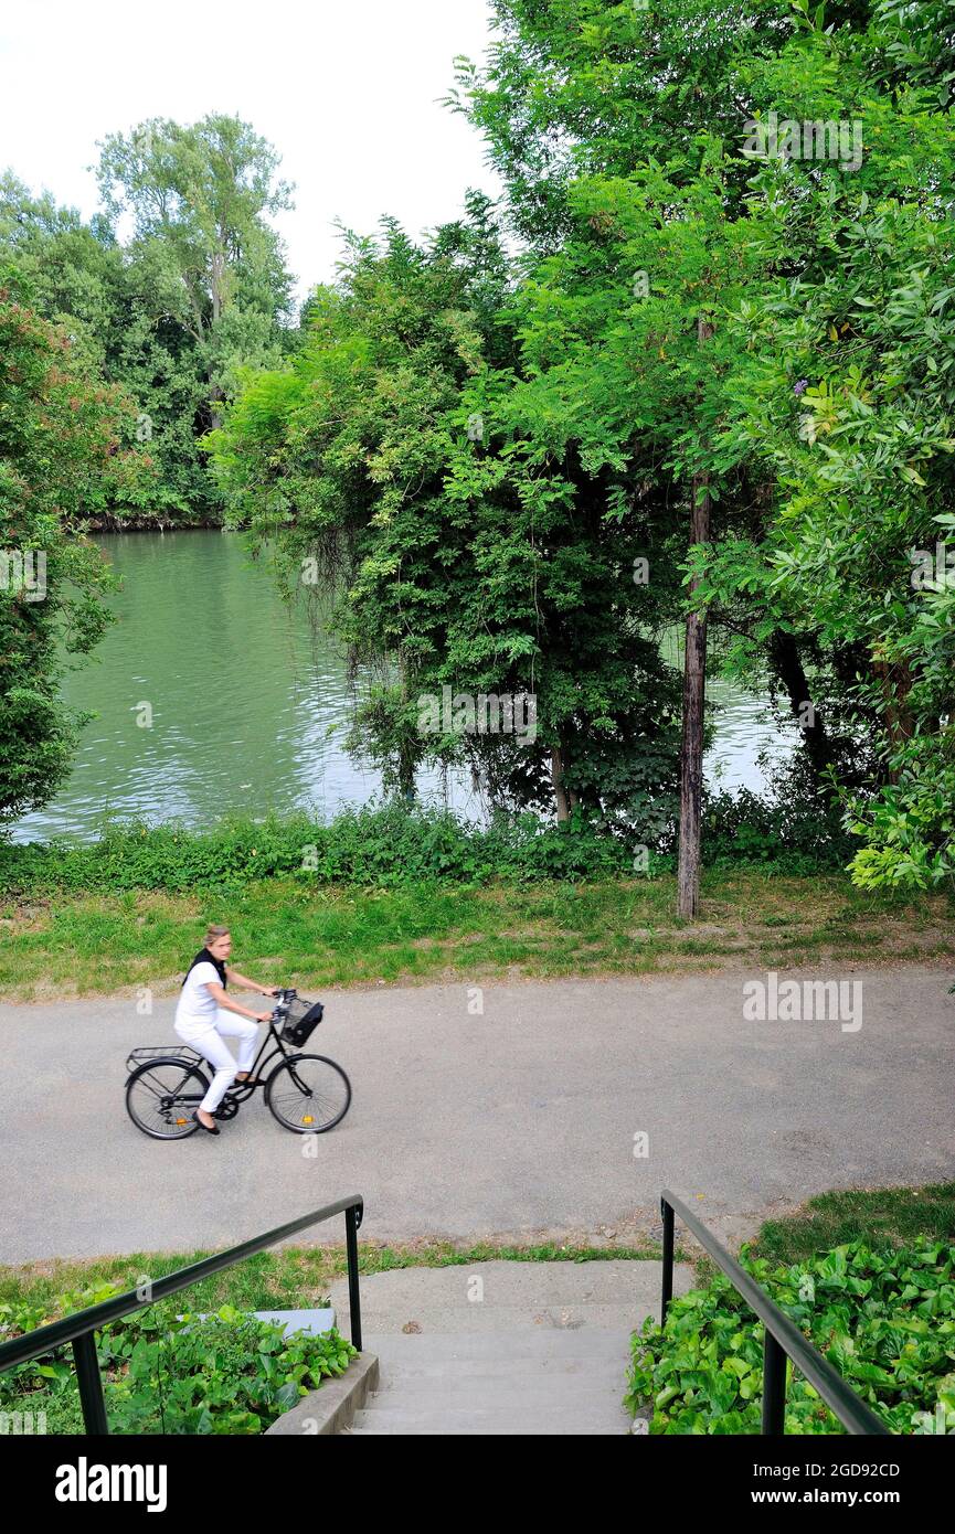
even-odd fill
[{"label": "leafy tree with long glossy leaves along the right edge", "polygon": [[[808,38],[803,75],[792,57],[772,81],[806,91],[818,58],[828,115],[857,123],[866,152],[851,176],[778,158],[754,176],[763,279],[728,321],[749,339],[715,451],[762,460],[772,495],[758,537],[697,571],[702,600],[742,598],[808,634],[832,712],[866,730],[864,776],[829,752],[864,839],[855,881],[926,887],[955,871],[955,129],[929,64],[917,87],[886,89],[889,12],[895,25],[898,8],[880,6],[864,37]],[[938,14],[906,8],[907,48],[935,35],[920,12]]]}]

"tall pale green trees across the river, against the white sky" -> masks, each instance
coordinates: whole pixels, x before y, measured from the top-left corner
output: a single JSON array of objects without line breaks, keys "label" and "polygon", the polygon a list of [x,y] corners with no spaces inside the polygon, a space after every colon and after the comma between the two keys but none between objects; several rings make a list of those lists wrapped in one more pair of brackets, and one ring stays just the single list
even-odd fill
[{"label": "tall pale green trees across the river, against the white sky", "polygon": [[[141,123],[101,146],[104,212],[84,224],[48,193],[0,176],[0,262],[12,259],[32,304],[137,403],[137,440],[157,474],[129,483],[100,520],[215,520],[220,495],[201,437],[247,368],[278,367],[290,275],[264,215],[289,207],[278,156],[240,118],[183,127]],[[121,244],[120,219],[134,235]]]}]

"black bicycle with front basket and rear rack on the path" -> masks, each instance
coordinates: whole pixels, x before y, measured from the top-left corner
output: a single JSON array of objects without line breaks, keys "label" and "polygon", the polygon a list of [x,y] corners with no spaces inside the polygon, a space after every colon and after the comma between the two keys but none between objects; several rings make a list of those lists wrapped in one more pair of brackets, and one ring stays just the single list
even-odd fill
[{"label": "black bicycle with front basket and rear rack on the path", "polygon": [[[246,1081],[233,1081],[213,1118],[235,1118],[240,1106],[263,1088],[273,1118],[298,1135],[324,1135],[342,1121],[352,1104],[352,1083],[327,1055],[290,1054],[299,1049],[322,1020],[321,1002],[306,1002],[296,991],[278,992],[269,1032],[263,1039]],[[273,1045],[272,1051],[269,1043]],[[281,1054],[269,1075],[261,1072]],[[264,1057],[264,1058],[263,1058]],[[126,1057],[126,1111],[137,1129],[154,1140],[187,1140],[198,1132],[192,1114],[209,1091],[209,1062],[198,1049],[183,1045],[144,1045]]]}]

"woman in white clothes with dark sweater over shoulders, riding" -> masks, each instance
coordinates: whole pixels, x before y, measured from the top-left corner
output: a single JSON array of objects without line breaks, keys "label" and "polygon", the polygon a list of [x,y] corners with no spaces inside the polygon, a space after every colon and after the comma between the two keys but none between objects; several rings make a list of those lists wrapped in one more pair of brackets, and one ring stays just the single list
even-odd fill
[{"label": "woman in white clothes with dark sweater over shoulders, riding", "polygon": [[[213,1112],[233,1081],[247,1081],[255,1058],[258,1025],[267,1023],[272,1012],[250,1012],[247,1006],[226,996],[229,982],[258,991],[259,996],[278,996],[272,986],[249,980],[227,965],[232,953],[232,936],[227,927],[209,927],[206,945],[189,965],[180,1000],[175,1009],[175,1031],[183,1043],[192,1045],[215,1066],[212,1086],[192,1115],[207,1134],[218,1135]],[[230,1016],[232,1014],[232,1016]],[[238,1066],[223,1034],[240,1040]]]}]

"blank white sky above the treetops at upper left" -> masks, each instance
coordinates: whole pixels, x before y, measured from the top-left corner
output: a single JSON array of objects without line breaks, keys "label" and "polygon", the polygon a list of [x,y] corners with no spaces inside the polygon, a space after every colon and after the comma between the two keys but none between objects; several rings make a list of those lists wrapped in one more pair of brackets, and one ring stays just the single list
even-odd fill
[{"label": "blank white sky above the treetops at upper left", "polygon": [[335,275],[333,219],[410,235],[499,190],[484,144],[439,101],[481,60],[485,0],[28,0],[0,17],[0,169],[89,218],[97,140],[147,117],[238,114],[283,156],[276,219],[298,295]]}]

